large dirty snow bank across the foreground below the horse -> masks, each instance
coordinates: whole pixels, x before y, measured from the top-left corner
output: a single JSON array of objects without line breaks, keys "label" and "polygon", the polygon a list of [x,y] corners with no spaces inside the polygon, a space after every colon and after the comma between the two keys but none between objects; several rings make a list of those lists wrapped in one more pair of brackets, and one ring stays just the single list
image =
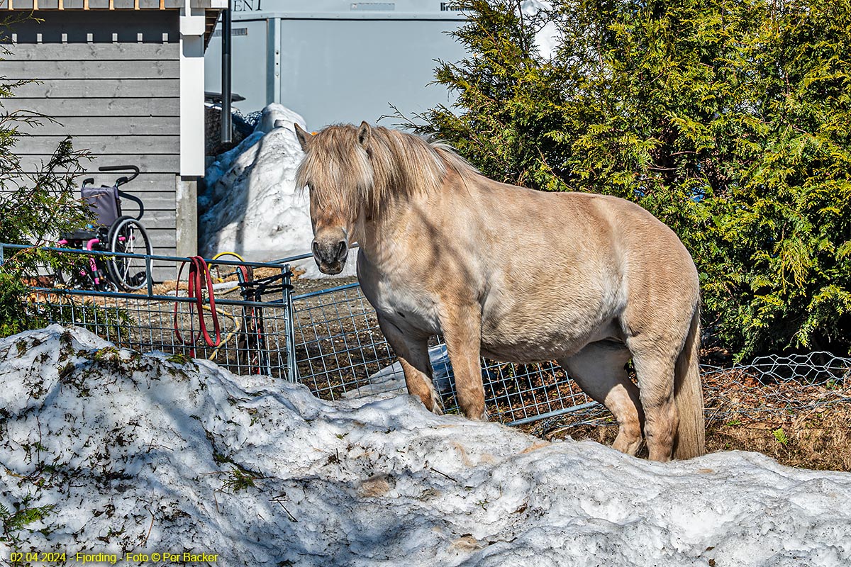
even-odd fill
[{"label": "large dirty snow bank across the foreground below the horse", "polygon": [[[331,404],[60,326],[0,340],[0,380],[3,558],[14,545],[227,566],[851,562],[848,473],[742,452],[647,462],[437,417],[407,395]],[[29,523],[7,521],[16,506]]]}]

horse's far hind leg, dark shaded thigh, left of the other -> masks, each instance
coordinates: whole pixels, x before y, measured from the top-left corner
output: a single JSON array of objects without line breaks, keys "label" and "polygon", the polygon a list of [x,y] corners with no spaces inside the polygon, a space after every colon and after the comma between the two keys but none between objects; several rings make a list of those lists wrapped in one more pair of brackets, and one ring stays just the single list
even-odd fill
[{"label": "horse's far hind leg, dark shaded thigh, left of the other", "polygon": [[585,394],[605,405],[618,421],[612,447],[634,456],[641,447],[643,411],[638,388],[626,374],[628,360],[625,345],[600,341],[558,362]]}]

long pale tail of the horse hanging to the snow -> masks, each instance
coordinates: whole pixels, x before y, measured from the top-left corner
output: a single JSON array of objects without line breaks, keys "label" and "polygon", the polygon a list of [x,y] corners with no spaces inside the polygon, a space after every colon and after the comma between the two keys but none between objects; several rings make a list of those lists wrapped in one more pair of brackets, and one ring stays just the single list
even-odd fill
[{"label": "long pale tail of the horse hanging to the snow", "polygon": [[699,349],[700,304],[694,308],[686,343],[677,356],[674,370],[674,403],[680,417],[674,438],[675,459],[690,459],[706,452]]}]

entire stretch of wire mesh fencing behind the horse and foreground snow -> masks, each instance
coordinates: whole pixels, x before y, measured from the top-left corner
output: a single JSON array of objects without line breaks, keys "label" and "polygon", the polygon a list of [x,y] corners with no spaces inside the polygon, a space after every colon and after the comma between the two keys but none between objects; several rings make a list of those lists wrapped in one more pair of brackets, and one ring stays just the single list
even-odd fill
[{"label": "entire stretch of wire mesh fencing behind the horse and foreground snow", "polygon": [[[3,247],[0,245],[0,252]],[[96,252],[63,251],[73,254]],[[2,258],[2,256],[0,256]],[[186,258],[157,259],[158,265]],[[47,322],[72,323],[120,347],[159,350],[187,358],[207,358],[236,374],[262,374],[298,381],[325,400],[380,393],[403,393],[403,371],[380,332],[374,309],[357,282],[316,289],[290,278],[290,263],[210,260],[220,280],[214,301],[187,297],[186,285],[167,282],[135,293],[97,292],[62,286],[32,287],[28,315]],[[254,284],[237,278],[252,269]],[[0,266],[2,268],[2,266]],[[276,286],[256,281],[275,280]],[[43,275],[40,281],[43,281]],[[203,331],[220,341],[208,342]],[[434,383],[444,411],[457,411],[454,378],[441,337],[430,343]],[[553,363],[518,365],[482,360],[491,419],[511,425],[562,419],[597,423],[608,416]],[[794,412],[851,403],[851,359],[826,353],[757,359],[748,365],[703,367],[708,422],[753,412]]]}]

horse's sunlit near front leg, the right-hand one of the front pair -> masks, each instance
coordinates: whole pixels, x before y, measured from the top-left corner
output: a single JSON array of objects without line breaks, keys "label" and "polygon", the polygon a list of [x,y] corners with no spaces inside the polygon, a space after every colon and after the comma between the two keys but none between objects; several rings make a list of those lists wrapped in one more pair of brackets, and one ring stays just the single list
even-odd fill
[{"label": "horse's sunlit near front leg, the right-hand one of the front pair", "polygon": [[484,407],[482,366],[482,313],[476,304],[442,310],[443,339],[455,375],[458,405],[469,419],[488,421]]}]

